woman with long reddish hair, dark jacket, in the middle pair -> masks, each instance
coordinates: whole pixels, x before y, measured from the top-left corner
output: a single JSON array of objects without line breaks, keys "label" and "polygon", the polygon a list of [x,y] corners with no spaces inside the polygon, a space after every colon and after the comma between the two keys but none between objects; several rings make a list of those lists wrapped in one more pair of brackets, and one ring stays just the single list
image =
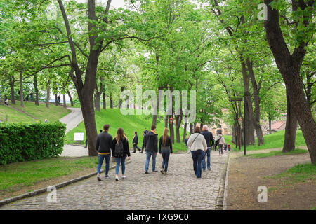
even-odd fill
[{"label": "woman with long reddish hair, dark jacket, in the middle pair", "polygon": [[162,154],[162,168],[160,169],[160,172],[162,172],[162,174],[166,174],[168,170],[169,157],[170,153],[172,153],[172,143],[168,132],[168,128],[165,127],[164,135],[159,139],[159,153]]}]

